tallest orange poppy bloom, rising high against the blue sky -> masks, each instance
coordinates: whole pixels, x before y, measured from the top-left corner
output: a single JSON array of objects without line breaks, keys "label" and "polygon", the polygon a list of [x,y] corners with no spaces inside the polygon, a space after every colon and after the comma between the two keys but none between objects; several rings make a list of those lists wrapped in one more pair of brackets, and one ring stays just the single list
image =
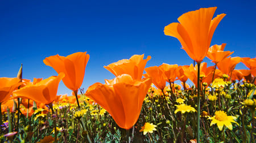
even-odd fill
[{"label": "tallest orange poppy bloom, rising high against the blue sky", "polygon": [[180,23],[171,23],[164,28],[164,34],[176,37],[189,57],[201,62],[207,55],[210,41],[218,23],[226,14],[213,18],[217,7],[200,8],[178,18]]}]

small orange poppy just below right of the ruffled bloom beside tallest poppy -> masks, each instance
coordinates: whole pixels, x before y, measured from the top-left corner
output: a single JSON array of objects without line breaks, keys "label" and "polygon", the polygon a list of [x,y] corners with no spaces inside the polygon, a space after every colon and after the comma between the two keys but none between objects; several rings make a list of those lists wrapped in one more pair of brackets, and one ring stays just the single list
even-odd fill
[{"label": "small orange poppy just below right of the ruffled bloom beside tallest poppy", "polygon": [[218,70],[220,70],[222,73],[225,73],[226,75],[230,76],[230,73],[234,70],[236,65],[241,62],[240,57],[229,57],[225,58],[221,62],[217,64]]}]

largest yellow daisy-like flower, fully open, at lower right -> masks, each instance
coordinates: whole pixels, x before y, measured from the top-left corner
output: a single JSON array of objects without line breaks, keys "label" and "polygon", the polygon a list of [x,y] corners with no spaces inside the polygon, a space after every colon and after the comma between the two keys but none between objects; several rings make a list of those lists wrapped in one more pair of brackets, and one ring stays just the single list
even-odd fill
[{"label": "largest yellow daisy-like flower, fully open, at lower right", "polygon": [[230,130],[233,129],[231,123],[236,123],[238,125],[238,123],[234,121],[237,118],[235,116],[226,115],[224,111],[216,111],[215,115],[209,119],[212,120],[212,122],[210,122],[210,126],[217,123],[218,129],[220,129],[220,131],[222,131],[224,125]]}]

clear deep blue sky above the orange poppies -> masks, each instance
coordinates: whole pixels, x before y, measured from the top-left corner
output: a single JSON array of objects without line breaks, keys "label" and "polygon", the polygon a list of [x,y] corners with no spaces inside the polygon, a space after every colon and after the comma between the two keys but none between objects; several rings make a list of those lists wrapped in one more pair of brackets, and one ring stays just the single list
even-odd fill
[{"label": "clear deep blue sky above the orange poppies", "polygon": [[[23,78],[57,75],[43,59],[87,51],[90,55],[82,88],[104,83],[114,75],[103,66],[151,55],[146,67],[193,61],[180,42],[164,35],[164,27],[180,15],[217,6],[226,16],[211,45],[226,43],[232,57],[256,55],[256,1],[0,1],[0,77],[15,77],[23,63]],[[204,59],[213,66],[208,58]],[[246,68],[242,63],[237,69]],[[60,83],[58,94],[71,94]]]}]

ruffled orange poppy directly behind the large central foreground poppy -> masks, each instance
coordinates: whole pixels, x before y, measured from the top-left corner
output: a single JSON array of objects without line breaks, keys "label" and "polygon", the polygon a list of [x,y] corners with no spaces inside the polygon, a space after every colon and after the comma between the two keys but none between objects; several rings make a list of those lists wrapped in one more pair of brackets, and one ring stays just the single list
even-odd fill
[{"label": "ruffled orange poppy directly behind the large central foreground poppy", "polygon": [[151,56],[148,56],[147,59],[143,59],[143,57],[144,54],[133,55],[130,59],[119,60],[118,62],[104,66],[104,68],[115,76],[128,74],[133,77],[133,79],[141,80],[147,61],[151,59]]}]

